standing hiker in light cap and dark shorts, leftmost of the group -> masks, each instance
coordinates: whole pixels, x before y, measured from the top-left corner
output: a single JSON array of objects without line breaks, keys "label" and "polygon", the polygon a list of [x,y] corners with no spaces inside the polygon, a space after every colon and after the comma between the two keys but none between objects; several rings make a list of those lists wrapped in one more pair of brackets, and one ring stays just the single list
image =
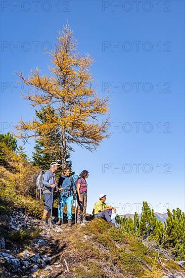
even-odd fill
[{"label": "standing hiker in light cap and dark shorts, leftmost of the group", "polygon": [[50,164],[50,169],[45,171],[43,175],[43,196],[45,202],[45,208],[43,210],[42,223],[47,226],[48,219],[51,217],[51,211],[53,208],[54,191],[57,191],[55,172],[58,169],[57,162],[52,162]]}]

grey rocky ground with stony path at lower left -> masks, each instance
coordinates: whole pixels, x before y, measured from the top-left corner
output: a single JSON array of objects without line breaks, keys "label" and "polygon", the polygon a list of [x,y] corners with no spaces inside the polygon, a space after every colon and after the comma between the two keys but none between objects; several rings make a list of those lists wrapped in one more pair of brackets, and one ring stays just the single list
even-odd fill
[{"label": "grey rocky ground with stony path at lower left", "polygon": [[67,244],[66,235],[77,228],[75,225],[64,224],[64,229],[56,225],[45,227],[21,211],[0,217],[0,222],[7,235],[7,239],[0,237],[2,277],[57,277],[69,271],[62,251]]}]

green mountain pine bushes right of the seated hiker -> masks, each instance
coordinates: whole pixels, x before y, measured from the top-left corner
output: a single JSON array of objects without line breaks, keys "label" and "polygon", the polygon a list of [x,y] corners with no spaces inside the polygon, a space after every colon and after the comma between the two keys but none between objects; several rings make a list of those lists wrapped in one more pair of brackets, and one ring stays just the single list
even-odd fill
[{"label": "green mountain pine bushes right of the seated hiker", "polygon": [[128,234],[137,238],[155,241],[159,246],[171,250],[177,261],[185,260],[185,215],[179,208],[167,210],[168,218],[163,223],[157,219],[154,210],[143,202],[141,219],[116,216],[116,223]]}]

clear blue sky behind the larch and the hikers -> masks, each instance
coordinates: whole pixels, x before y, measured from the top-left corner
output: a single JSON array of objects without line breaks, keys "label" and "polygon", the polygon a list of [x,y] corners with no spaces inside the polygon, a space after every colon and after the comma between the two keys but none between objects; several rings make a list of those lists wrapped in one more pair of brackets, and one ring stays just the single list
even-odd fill
[{"label": "clear blue sky behind the larch and the hikers", "polygon": [[111,96],[111,137],[95,153],[76,147],[71,156],[73,170],[89,171],[87,211],[100,193],[119,214],[141,211],[143,201],[161,213],[184,210],[183,1],[2,1],[1,132],[33,117],[14,72],[47,74],[43,49],[67,19],[78,51],[96,61],[99,94],[109,88]]}]

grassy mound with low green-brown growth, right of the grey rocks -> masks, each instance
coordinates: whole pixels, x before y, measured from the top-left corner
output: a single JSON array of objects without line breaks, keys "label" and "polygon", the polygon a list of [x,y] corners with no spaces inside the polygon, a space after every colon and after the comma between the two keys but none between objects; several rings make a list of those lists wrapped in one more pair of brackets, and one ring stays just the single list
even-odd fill
[{"label": "grassy mound with low green-brown growth, right of the grey rocks", "polygon": [[[54,261],[60,262],[63,263],[63,269],[55,269],[50,277],[157,278],[168,271],[182,273],[176,263],[166,260],[162,255],[161,265],[156,250],[125,235],[120,228],[110,226],[103,219],[92,220],[85,227],[67,227],[62,234],[55,235],[55,241],[58,247],[52,248],[52,252],[54,249],[56,252],[52,255],[51,265]],[[43,275],[44,271],[39,270],[37,274]]]}]

